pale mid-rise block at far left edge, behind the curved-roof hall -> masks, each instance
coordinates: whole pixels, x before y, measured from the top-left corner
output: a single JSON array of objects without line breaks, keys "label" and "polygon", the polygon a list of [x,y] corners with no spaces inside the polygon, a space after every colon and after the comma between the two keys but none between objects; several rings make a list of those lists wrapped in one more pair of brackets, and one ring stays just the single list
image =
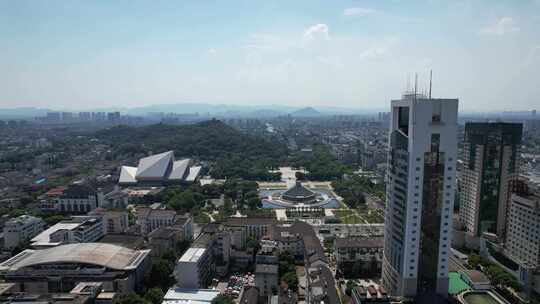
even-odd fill
[{"label": "pale mid-rise block at far left edge, behind the curved-roof hall", "polygon": [[45,229],[45,222],[31,215],[21,215],[4,224],[4,248],[11,250]]}]

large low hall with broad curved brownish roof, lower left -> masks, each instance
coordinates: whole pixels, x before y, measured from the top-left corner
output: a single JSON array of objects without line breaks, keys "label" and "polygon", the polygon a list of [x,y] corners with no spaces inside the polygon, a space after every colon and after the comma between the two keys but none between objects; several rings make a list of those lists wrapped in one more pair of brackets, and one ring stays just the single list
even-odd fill
[{"label": "large low hall with broad curved brownish roof, lower left", "polygon": [[102,243],[27,249],[0,263],[0,278],[34,294],[68,292],[79,282],[101,282],[104,291],[130,293],[143,287],[149,253]]}]

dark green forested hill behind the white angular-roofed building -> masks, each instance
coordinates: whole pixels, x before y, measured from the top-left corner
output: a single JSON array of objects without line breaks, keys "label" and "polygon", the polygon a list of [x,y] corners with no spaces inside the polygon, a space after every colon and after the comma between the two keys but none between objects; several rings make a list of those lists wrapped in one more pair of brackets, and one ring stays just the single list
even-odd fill
[{"label": "dark green forested hill behind the white angular-roofed building", "polygon": [[173,150],[176,158],[212,161],[214,177],[270,180],[267,172],[287,156],[284,144],[241,133],[219,120],[191,125],[117,126],[96,133],[115,155]]}]

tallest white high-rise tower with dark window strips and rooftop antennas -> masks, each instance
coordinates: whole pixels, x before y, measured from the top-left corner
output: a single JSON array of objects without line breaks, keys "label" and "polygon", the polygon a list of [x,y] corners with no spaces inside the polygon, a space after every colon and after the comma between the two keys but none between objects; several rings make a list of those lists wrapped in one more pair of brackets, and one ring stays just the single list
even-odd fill
[{"label": "tallest white high-rise tower with dark window strips and rooftop antennas", "polygon": [[392,101],[383,284],[391,295],[448,294],[457,99]]}]

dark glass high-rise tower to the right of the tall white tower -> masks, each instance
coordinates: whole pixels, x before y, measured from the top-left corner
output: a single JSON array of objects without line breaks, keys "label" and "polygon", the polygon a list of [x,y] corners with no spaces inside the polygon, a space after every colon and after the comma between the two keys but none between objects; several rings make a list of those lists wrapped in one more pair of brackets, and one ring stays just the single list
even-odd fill
[{"label": "dark glass high-rise tower to the right of the tall white tower", "polygon": [[459,176],[461,225],[469,236],[504,239],[508,182],[519,168],[520,123],[467,123]]}]

